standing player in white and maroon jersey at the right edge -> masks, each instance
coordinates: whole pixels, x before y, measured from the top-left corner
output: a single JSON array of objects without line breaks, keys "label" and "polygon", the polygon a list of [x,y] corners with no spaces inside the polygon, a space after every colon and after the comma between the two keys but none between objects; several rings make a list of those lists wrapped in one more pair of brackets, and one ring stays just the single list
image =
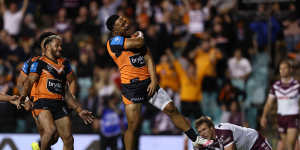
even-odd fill
[{"label": "standing player in white and maroon jersey at the right edge", "polygon": [[272,85],[260,124],[267,126],[267,114],[277,100],[277,122],[283,147],[294,150],[299,131],[300,84],[292,77],[292,65],[284,60],[279,65],[280,80]]}]

